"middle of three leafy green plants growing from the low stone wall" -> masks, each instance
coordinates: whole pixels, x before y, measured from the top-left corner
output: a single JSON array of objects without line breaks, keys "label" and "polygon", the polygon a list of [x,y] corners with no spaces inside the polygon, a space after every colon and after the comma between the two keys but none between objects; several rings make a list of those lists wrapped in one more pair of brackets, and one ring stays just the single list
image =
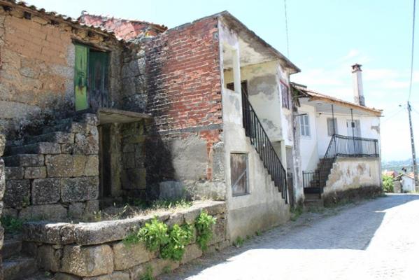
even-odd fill
[{"label": "middle of three leafy green plants growing from the low stone wall", "polygon": [[171,260],[180,260],[185,253],[185,246],[192,240],[192,226],[173,225],[169,230],[169,242],[162,246],[160,254],[162,258],[170,258]]}]

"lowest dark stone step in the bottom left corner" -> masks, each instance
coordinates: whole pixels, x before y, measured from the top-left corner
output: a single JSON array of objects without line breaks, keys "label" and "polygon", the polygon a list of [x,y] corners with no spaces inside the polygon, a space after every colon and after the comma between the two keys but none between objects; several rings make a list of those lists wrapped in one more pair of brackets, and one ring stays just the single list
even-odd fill
[{"label": "lowest dark stone step in the bottom left corner", "polygon": [[36,274],[36,260],[34,258],[17,257],[3,260],[3,278],[7,280],[24,279]]}]

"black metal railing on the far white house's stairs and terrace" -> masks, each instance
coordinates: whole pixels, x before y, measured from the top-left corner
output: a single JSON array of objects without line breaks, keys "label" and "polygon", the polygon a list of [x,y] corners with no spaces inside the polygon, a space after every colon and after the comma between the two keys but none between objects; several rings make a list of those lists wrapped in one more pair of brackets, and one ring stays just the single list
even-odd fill
[{"label": "black metal railing on the far white house's stairs and terrace", "polygon": [[378,158],[379,156],[378,139],[334,134],[318,168],[314,172],[303,172],[303,186],[304,188],[320,188],[320,193],[322,193],[333,163],[338,157]]}]

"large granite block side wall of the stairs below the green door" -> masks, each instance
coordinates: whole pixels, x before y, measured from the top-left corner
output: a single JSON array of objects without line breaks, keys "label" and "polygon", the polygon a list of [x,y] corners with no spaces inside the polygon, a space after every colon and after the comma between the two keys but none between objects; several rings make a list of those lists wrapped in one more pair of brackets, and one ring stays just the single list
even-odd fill
[{"label": "large granite block side wall of the stairs below the green door", "polygon": [[10,148],[15,155],[3,158],[5,214],[64,221],[99,210],[97,118],[85,116],[84,123],[70,123],[69,132],[53,134],[54,141],[41,142],[36,154],[25,154],[27,146]]}]

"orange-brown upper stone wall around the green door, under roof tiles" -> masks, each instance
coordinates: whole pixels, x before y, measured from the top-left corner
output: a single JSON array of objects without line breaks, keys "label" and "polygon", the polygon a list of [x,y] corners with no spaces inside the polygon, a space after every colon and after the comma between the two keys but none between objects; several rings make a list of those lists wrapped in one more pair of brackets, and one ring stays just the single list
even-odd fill
[{"label": "orange-brown upper stone wall around the green door, under roof tiles", "polygon": [[73,41],[113,50],[109,92],[119,95],[122,43],[111,35],[13,6],[0,9],[0,38],[0,127],[8,139],[24,134],[22,127],[42,125],[74,111]]}]

